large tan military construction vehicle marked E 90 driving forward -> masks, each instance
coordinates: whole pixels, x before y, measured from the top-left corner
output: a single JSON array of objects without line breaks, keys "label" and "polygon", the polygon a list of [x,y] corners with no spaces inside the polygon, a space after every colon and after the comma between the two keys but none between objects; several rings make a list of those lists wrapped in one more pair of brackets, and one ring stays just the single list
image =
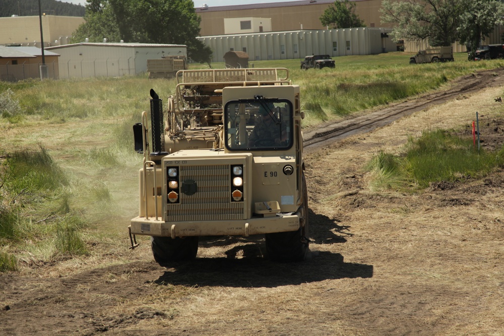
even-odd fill
[{"label": "large tan military construction vehicle marked E 90 driving forward", "polygon": [[151,236],[164,265],[196,257],[200,236],[264,234],[271,259],[302,260],[309,244],[303,115],[288,70],[176,77],[166,111],[151,90],[150,113],[134,126],[144,162],[132,247],[135,235]]}]

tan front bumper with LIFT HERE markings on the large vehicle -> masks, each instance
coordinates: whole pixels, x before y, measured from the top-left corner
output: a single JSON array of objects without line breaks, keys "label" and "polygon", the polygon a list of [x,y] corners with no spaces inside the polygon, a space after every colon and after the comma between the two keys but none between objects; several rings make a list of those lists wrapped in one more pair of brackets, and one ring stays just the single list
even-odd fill
[{"label": "tan front bumper with LIFT HERE markings on the large vehicle", "polygon": [[159,218],[136,217],[131,220],[133,235],[186,237],[186,236],[232,236],[287,232],[299,229],[300,213],[292,215],[258,217],[246,220],[164,222]]}]

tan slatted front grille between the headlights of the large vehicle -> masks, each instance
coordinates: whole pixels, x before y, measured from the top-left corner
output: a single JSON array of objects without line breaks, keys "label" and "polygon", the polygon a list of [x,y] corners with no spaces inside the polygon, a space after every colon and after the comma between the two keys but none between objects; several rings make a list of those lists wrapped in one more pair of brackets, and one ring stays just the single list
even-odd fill
[{"label": "tan slatted front grille between the headlights of the large vehicle", "polygon": [[194,180],[198,191],[179,194],[179,203],[167,205],[168,222],[243,219],[243,202],[231,201],[229,165],[180,166],[180,184]]}]

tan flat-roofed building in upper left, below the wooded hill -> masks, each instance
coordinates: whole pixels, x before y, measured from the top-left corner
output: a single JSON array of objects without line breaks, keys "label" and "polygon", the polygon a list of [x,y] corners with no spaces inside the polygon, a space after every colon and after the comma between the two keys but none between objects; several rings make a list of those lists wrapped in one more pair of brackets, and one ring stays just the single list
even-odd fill
[{"label": "tan flat-roofed building in upper left, below the wooded hill", "polygon": [[[44,47],[70,43],[71,34],[84,23],[75,16],[42,16]],[[40,18],[12,16],[0,18],[0,45],[36,46],[40,48]]]}]

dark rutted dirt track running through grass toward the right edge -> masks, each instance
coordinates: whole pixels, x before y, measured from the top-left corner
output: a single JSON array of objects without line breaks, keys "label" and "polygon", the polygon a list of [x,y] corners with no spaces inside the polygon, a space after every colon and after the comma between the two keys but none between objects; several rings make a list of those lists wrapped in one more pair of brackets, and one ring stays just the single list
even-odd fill
[{"label": "dark rutted dirt track running through grass toward the right edge", "polygon": [[413,100],[397,103],[387,108],[338,122],[318,126],[303,133],[305,153],[316,151],[337,140],[369,132],[393,121],[435,104],[443,104],[460,95],[478,92],[484,88],[504,85],[504,69],[492,69],[469,74],[451,84],[446,91],[425,94]]}]

